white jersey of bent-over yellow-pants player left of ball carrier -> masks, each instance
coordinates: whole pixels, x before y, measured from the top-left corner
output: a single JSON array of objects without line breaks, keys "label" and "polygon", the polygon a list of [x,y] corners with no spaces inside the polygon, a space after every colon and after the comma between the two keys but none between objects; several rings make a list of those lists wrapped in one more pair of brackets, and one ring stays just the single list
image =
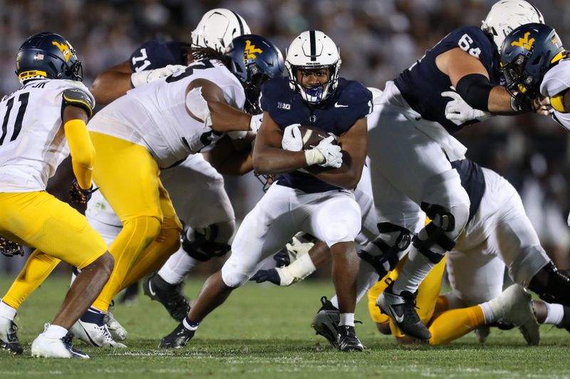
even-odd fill
[{"label": "white jersey of bent-over yellow-pants player left of ball carrier", "polygon": [[128,91],[95,114],[88,128],[145,146],[162,169],[189,154],[207,151],[223,134],[188,113],[186,89],[199,78],[214,82],[229,105],[243,109],[244,89],[235,75],[218,60],[200,60],[175,75]]}]

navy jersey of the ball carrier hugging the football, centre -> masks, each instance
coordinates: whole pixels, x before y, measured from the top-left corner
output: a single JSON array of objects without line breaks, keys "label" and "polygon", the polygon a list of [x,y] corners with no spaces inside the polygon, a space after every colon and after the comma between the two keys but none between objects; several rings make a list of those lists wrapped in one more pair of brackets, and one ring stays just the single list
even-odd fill
[{"label": "navy jersey of the ball carrier hugging the football, centre", "polygon": [[[372,92],[354,80],[338,79],[336,91],[318,106],[304,102],[289,87],[289,78],[274,78],[261,87],[261,109],[268,112],[281,130],[291,124],[318,127],[340,136],[372,110]],[[277,176],[278,184],[306,193],[338,189],[311,174],[293,171]]]}]

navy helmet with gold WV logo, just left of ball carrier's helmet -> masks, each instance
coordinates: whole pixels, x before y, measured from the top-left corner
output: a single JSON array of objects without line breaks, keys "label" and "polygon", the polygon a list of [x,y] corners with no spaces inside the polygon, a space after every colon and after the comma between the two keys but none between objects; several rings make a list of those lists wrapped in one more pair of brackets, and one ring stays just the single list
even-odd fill
[{"label": "navy helmet with gold WV logo, just left of ball carrier's helmet", "polygon": [[261,113],[261,84],[283,74],[285,64],[279,48],[261,36],[245,34],[233,39],[222,61],[244,85],[246,112]]}]

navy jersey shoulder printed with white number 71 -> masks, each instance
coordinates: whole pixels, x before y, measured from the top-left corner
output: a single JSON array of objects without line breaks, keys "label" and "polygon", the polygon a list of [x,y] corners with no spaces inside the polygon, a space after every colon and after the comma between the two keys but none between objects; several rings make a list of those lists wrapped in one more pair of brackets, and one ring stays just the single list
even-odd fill
[{"label": "navy jersey shoulder printed with white number 71", "polygon": [[130,69],[136,71],[154,70],[167,65],[187,65],[185,54],[188,43],[146,41],[130,55]]}]

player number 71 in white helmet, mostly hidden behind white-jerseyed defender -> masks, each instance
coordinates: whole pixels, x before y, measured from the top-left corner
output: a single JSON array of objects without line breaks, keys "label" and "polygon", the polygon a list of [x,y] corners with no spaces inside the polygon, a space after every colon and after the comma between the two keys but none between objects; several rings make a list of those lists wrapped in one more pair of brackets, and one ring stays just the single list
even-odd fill
[{"label": "player number 71 in white helmet, mostly hidden behind white-jerseyed defender", "polygon": [[[107,104],[125,95],[131,87],[140,87],[185,68],[182,65],[193,61],[192,47],[212,48],[223,53],[235,37],[249,33],[249,26],[239,14],[229,9],[212,9],[192,31],[191,44],[147,41],[129,60],[100,73],[93,82],[92,93],[99,104]],[[259,122],[258,118],[252,120]],[[222,148],[231,150],[233,146],[223,144],[210,154]],[[212,157],[214,162],[216,158]],[[229,238],[234,234],[234,210],[224,189],[224,179],[217,170],[224,171],[223,174],[243,174],[244,170],[240,169],[229,170],[220,164],[214,169],[202,154],[192,154],[181,164],[161,171],[162,183],[186,228],[180,250],[159,272],[145,279],[143,289],[148,297],[160,301],[177,321],[190,310],[190,304],[182,295],[185,274],[201,262],[224,255],[229,250]],[[197,196],[199,201],[196,201]],[[100,193],[95,193],[88,203],[86,216],[109,244],[115,240],[122,225]]]}]

